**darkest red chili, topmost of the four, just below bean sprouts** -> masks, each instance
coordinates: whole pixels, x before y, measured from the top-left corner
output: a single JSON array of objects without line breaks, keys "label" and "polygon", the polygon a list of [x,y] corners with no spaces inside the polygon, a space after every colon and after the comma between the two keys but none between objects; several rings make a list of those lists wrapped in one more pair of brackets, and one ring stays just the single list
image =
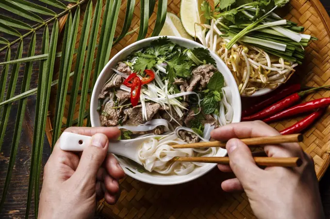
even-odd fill
[{"label": "darkest red chili, topmost of the four, just below bean sprouts", "polygon": [[279,93],[275,94],[275,92],[273,92],[272,93],[273,95],[270,96],[269,98],[265,99],[264,101],[261,101],[260,103],[252,105],[252,106],[248,107],[247,109],[244,109],[242,111],[242,117],[249,116],[252,113],[255,113],[261,109],[264,109],[265,107],[269,106],[270,104],[273,104],[276,101],[281,100],[282,98],[286,97],[287,95],[293,94],[300,90],[302,90],[300,84],[292,84],[290,86],[286,85]]}]

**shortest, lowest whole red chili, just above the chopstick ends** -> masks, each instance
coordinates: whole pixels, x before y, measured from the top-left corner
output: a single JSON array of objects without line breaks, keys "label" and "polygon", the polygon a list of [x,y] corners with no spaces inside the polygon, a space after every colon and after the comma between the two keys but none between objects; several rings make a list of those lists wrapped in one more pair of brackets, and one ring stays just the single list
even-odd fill
[{"label": "shortest, lowest whole red chili, just above the chopstick ends", "polygon": [[283,129],[280,133],[282,135],[289,135],[289,134],[297,134],[300,133],[301,131],[303,131],[305,128],[307,128],[308,126],[312,125],[312,123],[314,123],[314,121],[316,119],[318,119],[320,116],[323,115],[325,111],[325,108],[321,108],[321,109],[317,109],[315,112],[313,112],[311,115],[303,118],[302,120],[300,120],[299,122],[297,122],[296,124],[287,127],[285,129]]}]

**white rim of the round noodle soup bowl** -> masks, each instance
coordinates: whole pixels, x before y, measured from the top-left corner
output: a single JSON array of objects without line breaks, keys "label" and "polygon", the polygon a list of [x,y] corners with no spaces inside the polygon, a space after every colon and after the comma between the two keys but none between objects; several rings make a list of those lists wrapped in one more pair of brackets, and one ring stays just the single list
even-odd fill
[{"label": "white rim of the round noodle soup bowl", "polygon": [[[127,47],[124,47],[123,49],[121,49],[117,54],[115,54],[115,56],[113,56],[109,62],[103,67],[102,71],[100,72],[99,74],[99,77],[97,78],[97,81],[95,83],[95,86],[94,86],[94,89],[93,89],[93,92],[92,92],[92,96],[91,96],[91,102],[90,102],[90,118],[91,118],[91,125],[92,127],[96,127],[96,124],[94,122],[95,118],[94,118],[94,114],[93,114],[93,110],[92,110],[92,106],[94,105],[94,102],[95,102],[95,99],[96,99],[96,90],[95,89],[96,87],[98,86],[103,86],[103,84],[99,84],[100,83],[100,78],[102,78],[101,76],[104,75],[106,73],[106,70],[108,69],[108,66],[111,65],[114,60],[117,59],[117,57],[121,56],[123,53],[125,53],[127,50],[131,49],[132,47],[137,47],[139,44],[143,44],[145,42],[151,42],[153,40],[156,40],[158,39],[159,37],[161,36],[154,36],[154,37],[149,37],[149,38],[146,38],[146,39],[143,39],[143,40],[140,40],[140,41],[137,41],[137,42],[134,42],[132,43],[131,45],[127,46]],[[175,40],[175,41],[182,41],[184,43],[188,43],[188,44],[191,44],[193,47],[202,47],[202,48],[207,48],[201,44],[199,44],[198,42],[195,42],[193,40],[189,40],[189,39],[185,39],[185,38],[182,38],[182,37],[177,37],[177,36],[166,36],[170,41],[171,40]],[[138,48],[137,48],[138,49]],[[226,69],[226,73],[225,74],[228,74],[229,77],[231,78],[231,80],[234,81],[234,85],[235,85],[235,88],[234,88],[234,94],[232,94],[233,96],[236,95],[239,97],[239,101],[238,101],[238,106],[235,105],[235,108],[237,108],[237,110],[239,112],[242,111],[242,102],[241,102],[241,96],[239,94],[239,91],[238,91],[238,87],[237,87],[237,84],[235,82],[235,79],[234,77],[232,76],[231,74],[231,71],[229,70],[228,66],[221,60],[221,58],[215,54],[213,51],[209,50],[210,53],[213,53],[214,54],[214,57],[216,57],[215,59],[217,59],[218,62],[222,63],[223,67]],[[221,74],[223,74],[221,72]],[[237,122],[240,122],[241,121],[241,114],[239,113],[239,115],[237,116]],[[227,155],[227,151],[224,153],[223,156],[226,156]],[[136,180],[139,180],[141,182],[144,182],[144,183],[148,183],[148,184],[153,184],[153,185],[161,185],[161,186],[169,186],[169,185],[178,185],[178,184],[183,184],[183,183],[187,183],[187,182],[190,182],[192,180],[195,180],[203,175],[205,175],[206,173],[210,172],[211,170],[214,169],[214,167],[216,166],[217,164],[210,164],[210,168],[205,170],[204,172],[202,173],[199,173],[199,174],[196,174],[196,175],[193,175],[193,176],[190,176],[189,178],[186,178],[186,179],[181,179],[180,182],[150,182],[149,180],[145,180],[143,177],[139,177],[137,176],[136,174],[133,174],[132,172],[126,170],[126,168],[123,168],[125,174],[127,174],[128,176],[136,179]]]}]

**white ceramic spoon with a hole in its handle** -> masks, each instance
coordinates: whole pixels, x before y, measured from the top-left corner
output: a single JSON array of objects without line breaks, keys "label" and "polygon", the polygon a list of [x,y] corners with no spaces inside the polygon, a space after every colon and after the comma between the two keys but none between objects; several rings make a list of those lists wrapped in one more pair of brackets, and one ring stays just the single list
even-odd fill
[{"label": "white ceramic spoon with a hole in its handle", "polygon": [[[150,135],[138,139],[120,140],[109,142],[108,152],[125,156],[142,165],[139,159],[138,151],[143,142],[154,137],[164,137],[164,135]],[[60,148],[64,151],[83,151],[83,149],[90,143],[92,137],[79,135],[72,132],[63,132],[60,137]]]}]

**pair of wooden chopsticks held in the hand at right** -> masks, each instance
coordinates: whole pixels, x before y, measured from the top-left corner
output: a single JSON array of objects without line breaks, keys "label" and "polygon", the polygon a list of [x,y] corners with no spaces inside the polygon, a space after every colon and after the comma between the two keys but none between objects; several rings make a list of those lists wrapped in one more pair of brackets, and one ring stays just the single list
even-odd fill
[{"label": "pair of wooden chopsticks held in the hand at right", "polygon": [[[281,144],[289,142],[300,142],[303,140],[301,134],[278,135],[258,138],[241,139],[249,147],[261,147],[269,144]],[[209,141],[198,142],[192,144],[176,144],[173,148],[205,148],[205,147],[226,147],[226,142]],[[253,157],[259,166],[281,166],[281,167],[299,167],[302,160],[299,157]],[[229,157],[175,157],[174,161],[181,162],[203,162],[203,163],[220,163],[229,164]]]}]

